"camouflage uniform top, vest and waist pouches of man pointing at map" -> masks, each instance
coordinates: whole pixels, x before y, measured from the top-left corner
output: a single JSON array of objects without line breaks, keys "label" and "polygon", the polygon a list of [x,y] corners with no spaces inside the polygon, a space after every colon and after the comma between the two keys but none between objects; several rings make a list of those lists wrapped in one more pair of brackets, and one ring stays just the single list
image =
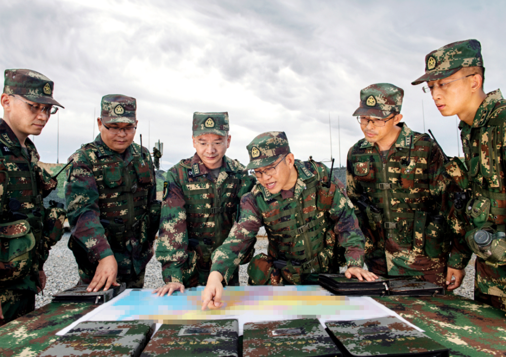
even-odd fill
[{"label": "camouflage uniform top, vest and waist pouches of man pointing at map", "polygon": [[[328,180],[328,168],[322,163],[296,160],[294,167],[299,178],[293,193],[271,195],[257,184],[241,198],[239,221],[213,253],[212,271],[220,272],[225,282],[255,245],[262,226],[269,238],[268,254],[249,263],[251,284],[315,284],[320,272],[332,273],[345,264],[363,265],[364,237],[343,184],[332,176],[331,187],[321,188],[319,180]],[[296,234],[303,226],[309,228]],[[290,264],[275,268],[274,260],[283,255]]]}]

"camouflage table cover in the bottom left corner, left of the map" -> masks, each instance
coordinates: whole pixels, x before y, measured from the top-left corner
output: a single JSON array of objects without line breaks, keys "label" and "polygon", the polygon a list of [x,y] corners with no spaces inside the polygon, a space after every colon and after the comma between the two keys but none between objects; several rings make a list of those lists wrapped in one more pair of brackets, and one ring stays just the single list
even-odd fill
[{"label": "camouflage table cover in the bottom left corner, left of the map", "polygon": [[99,305],[56,303],[40,307],[0,328],[0,356],[34,357],[56,341],[56,333]]}]

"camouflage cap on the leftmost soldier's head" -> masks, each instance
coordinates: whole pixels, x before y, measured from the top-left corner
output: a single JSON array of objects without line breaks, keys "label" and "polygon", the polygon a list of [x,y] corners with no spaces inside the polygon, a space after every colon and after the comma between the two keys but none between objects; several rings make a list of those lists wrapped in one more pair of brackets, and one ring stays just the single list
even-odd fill
[{"label": "camouflage cap on the leftmost soldier's head", "polygon": [[55,83],[42,73],[30,69],[6,69],[4,93],[17,94],[40,104],[63,106],[53,99]]}]

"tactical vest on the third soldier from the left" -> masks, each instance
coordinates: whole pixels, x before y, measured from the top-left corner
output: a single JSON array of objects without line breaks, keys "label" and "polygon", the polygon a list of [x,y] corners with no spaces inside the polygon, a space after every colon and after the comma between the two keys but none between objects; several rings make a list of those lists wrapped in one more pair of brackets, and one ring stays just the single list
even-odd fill
[{"label": "tactical vest on the third soldier from the left", "polygon": [[[184,161],[186,160],[181,160],[180,164],[186,170],[198,170]],[[210,261],[212,252],[227,239],[235,221],[240,201],[237,193],[241,187],[241,180],[236,176],[237,174],[228,172],[228,177],[220,187],[207,179],[200,182],[184,180],[181,185],[185,196],[190,247],[198,245],[202,249],[205,263]]]}]

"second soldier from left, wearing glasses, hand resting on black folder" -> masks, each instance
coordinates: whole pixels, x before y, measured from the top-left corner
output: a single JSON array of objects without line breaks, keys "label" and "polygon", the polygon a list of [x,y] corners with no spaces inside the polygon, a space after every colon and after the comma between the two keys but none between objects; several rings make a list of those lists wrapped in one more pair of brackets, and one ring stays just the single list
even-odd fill
[{"label": "second soldier from left, wearing glasses, hand resting on black folder", "polygon": [[119,285],[116,276],[127,288],[142,288],[160,214],[153,162],[133,142],[135,98],[107,95],[101,106],[99,135],[69,158],[68,246],[89,291]]}]

